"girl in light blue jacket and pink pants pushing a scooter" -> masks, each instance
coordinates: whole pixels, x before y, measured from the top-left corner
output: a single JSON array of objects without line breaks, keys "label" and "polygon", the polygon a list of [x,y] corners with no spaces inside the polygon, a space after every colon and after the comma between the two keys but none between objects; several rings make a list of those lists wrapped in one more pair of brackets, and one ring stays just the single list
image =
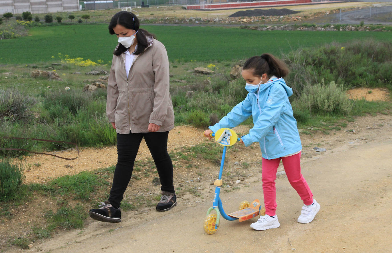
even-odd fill
[{"label": "girl in light blue jacket and pink pants pushing a scooter", "polygon": [[302,146],[297,122],[289,102],[289,96],[293,93],[283,80],[288,73],[289,69],[286,64],[273,55],[266,53],[249,58],[241,71],[246,81],[245,89],[249,91],[247,97],[217,124],[204,131],[204,136],[209,137],[212,132],[220,128],[232,128],[249,116],[253,117],[253,128],[249,130],[249,134],[241,137],[240,142],[246,147],[253,142],[259,142],[263,157],[261,181],[263,182],[265,215],[260,216],[257,222],[250,225],[256,230],[280,226],[275,213],[275,180],[280,161],[283,162],[291,186],[303,201],[298,222],[311,222],[320,209],[320,205],[313,199],[313,194],[301,174],[299,159]]}]

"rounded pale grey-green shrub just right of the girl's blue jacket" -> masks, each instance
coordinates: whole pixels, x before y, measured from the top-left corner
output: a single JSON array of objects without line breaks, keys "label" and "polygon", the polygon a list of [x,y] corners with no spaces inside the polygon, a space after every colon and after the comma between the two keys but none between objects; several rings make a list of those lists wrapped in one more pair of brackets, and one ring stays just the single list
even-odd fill
[{"label": "rounded pale grey-green shrub just right of the girl's blue jacket", "polygon": [[[296,111],[310,115],[336,113],[347,115],[352,110],[352,102],[347,99],[343,86],[335,82],[325,84],[324,80],[315,85],[307,85],[300,98],[293,102]],[[298,115],[297,115],[298,116]],[[299,115],[304,117],[304,115]]]}]

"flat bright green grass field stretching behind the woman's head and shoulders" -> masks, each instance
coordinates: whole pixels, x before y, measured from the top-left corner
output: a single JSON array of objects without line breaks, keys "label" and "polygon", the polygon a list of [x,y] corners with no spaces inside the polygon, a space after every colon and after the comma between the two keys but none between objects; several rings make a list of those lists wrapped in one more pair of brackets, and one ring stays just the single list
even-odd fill
[{"label": "flat bright green grass field stretching behind the woman's head and shoulders", "polygon": [[[227,27],[145,25],[165,45],[169,60],[240,60],[269,52],[289,53],[298,47],[317,47],[333,41],[375,38],[390,40],[390,33],[343,31],[256,31]],[[25,36],[0,42],[0,64],[58,61],[58,53],[109,63],[117,44],[107,25],[35,27]],[[54,58],[52,58],[54,56]]]}]

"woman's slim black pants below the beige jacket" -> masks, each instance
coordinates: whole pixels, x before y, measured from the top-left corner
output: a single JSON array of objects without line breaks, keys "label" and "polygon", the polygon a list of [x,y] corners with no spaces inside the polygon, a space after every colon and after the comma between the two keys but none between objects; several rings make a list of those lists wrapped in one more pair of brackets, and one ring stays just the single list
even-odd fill
[{"label": "woman's slim black pants below the beige jacket", "polygon": [[133,165],[143,137],[154,159],[161,180],[161,190],[174,193],[173,164],[167,153],[168,135],[168,131],[129,133],[124,135],[117,133],[118,158],[109,196],[109,202],[112,206],[120,206],[125,189],[127,189],[129,180],[131,180]]}]

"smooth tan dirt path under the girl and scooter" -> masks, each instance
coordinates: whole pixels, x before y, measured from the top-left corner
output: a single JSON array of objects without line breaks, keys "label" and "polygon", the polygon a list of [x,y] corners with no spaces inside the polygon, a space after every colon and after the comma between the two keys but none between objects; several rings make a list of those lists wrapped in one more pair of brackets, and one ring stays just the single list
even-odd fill
[{"label": "smooth tan dirt path under the girl and scooter", "polygon": [[[206,235],[202,224],[213,195],[206,180],[207,193],[180,198],[171,211],[124,212],[120,224],[92,222],[82,230],[36,243],[27,252],[385,252],[391,248],[392,116],[358,118],[337,135],[302,138],[303,175],[321,204],[310,224],[296,222],[301,200],[279,169],[277,229],[254,231],[249,224],[256,219],[241,223],[222,219],[218,231]],[[327,152],[316,153],[312,149],[316,145]],[[262,200],[260,177],[256,172],[242,180],[240,189],[221,191],[226,212],[236,210],[242,200]]]}]

